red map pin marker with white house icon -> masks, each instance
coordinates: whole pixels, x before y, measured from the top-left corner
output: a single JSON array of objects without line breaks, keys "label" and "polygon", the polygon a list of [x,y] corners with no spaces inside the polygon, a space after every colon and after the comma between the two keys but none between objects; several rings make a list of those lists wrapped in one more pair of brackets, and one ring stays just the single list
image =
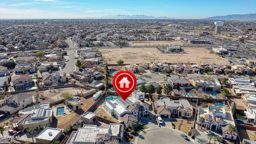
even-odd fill
[{"label": "red map pin marker with white house icon", "polygon": [[137,81],[134,74],[124,70],[115,74],[112,84],[119,96],[126,100],[135,90]]}]

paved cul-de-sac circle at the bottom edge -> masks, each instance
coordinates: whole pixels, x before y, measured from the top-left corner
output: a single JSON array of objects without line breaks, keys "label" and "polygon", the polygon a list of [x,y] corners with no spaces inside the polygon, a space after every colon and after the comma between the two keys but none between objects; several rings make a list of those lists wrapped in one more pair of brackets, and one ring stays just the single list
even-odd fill
[{"label": "paved cul-de-sac circle at the bottom edge", "polygon": [[180,136],[182,132],[167,128],[149,128],[138,134],[134,144],[192,144]]}]

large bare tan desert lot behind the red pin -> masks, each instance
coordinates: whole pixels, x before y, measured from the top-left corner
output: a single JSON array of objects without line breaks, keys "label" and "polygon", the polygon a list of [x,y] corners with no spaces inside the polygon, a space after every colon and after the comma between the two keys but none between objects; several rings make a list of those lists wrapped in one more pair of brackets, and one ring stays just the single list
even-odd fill
[{"label": "large bare tan desert lot behind the red pin", "polygon": [[[113,48],[101,49],[102,56],[108,64],[116,64],[117,60],[124,60],[125,64],[144,64],[150,62],[167,62],[167,63],[206,63],[222,64],[224,61],[217,54],[210,54],[205,48],[183,48],[186,54],[161,53],[156,48]],[[230,65],[230,64],[229,64]]]}]

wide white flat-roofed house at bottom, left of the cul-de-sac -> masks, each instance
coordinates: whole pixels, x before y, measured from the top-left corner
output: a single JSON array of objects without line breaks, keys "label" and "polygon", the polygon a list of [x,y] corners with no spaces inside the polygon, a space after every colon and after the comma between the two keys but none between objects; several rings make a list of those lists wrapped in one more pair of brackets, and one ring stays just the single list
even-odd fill
[{"label": "wide white flat-roofed house at bottom, left of the cul-de-sac", "polygon": [[122,142],[124,137],[123,124],[109,124],[109,126],[97,126],[84,124],[82,128],[73,131],[68,139],[68,144],[105,144],[112,139]]}]

